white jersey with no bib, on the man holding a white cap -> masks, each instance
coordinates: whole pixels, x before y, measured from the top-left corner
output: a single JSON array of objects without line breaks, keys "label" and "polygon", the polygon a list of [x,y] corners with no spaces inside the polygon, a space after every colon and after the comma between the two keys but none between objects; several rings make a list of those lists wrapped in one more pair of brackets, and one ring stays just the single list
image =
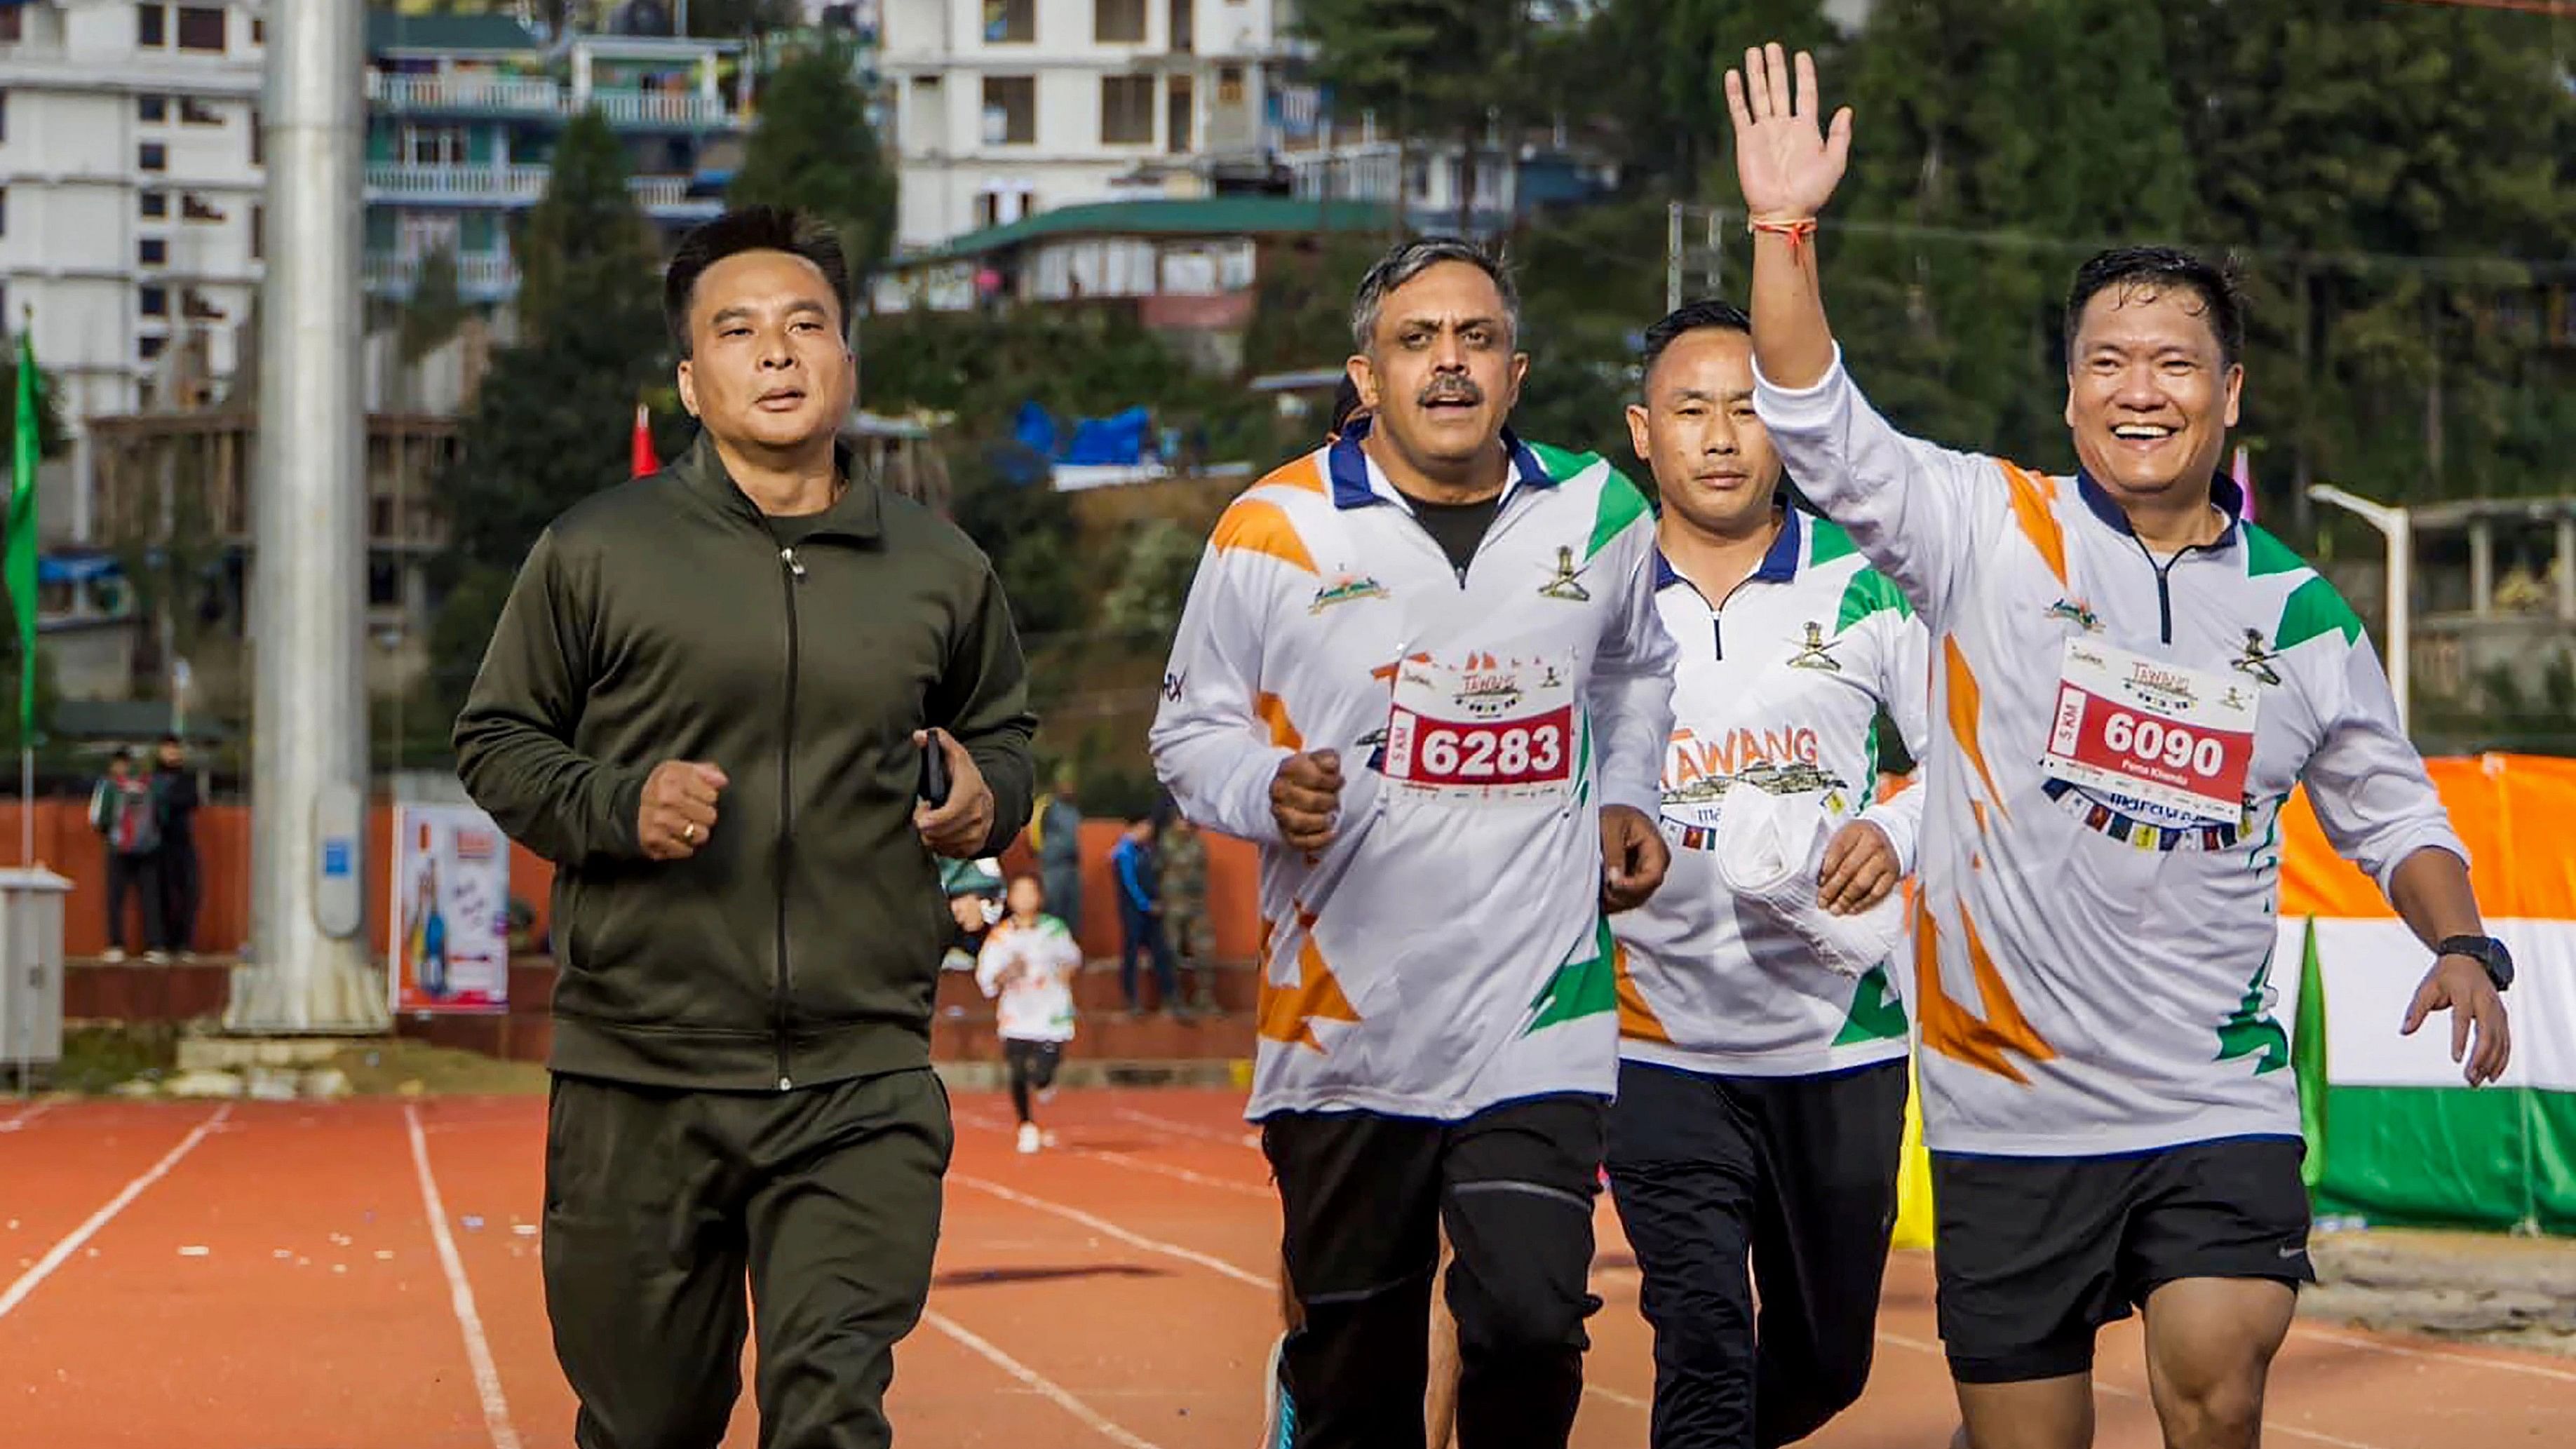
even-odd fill
[{"label": "white jersey with no bib, on the man holding a white cap", "polygon": [[1886,967],[1847,977],[1718,871],[1728,789],[1814,799],[1888,833],[1914,869],[1924,792],[1873,804],[1878,706],[1924,750],[1924,629],[1850,534],[1788,511],[1762,565],[1723,603],[1656,557],[1656,608],[1680,650],[1664,750],[1672,874],[1618,933],[1620,1057],[1692,1073],[1785,1078],[1906,1055]]}]

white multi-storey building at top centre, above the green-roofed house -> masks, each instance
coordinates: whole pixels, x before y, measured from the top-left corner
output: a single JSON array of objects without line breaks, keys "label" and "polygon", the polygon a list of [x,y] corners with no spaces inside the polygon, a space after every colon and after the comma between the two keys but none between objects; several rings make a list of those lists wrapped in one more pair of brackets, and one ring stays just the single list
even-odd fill
[{"label": "white multi-storey building at top centre, above the green-roofed house", "polygon": [[884,0],[899,248],[1030,211],[1206,196],[1265,150],[1288,0]]}]

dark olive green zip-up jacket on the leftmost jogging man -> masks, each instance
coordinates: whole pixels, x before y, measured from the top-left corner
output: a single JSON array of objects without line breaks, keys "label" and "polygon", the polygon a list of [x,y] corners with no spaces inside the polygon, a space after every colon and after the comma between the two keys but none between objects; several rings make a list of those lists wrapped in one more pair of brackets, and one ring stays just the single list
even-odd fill
[{"label": "dark olive green zip-up jacket on the leftmost jogging man", "polygon": [[[848,459],[842,459],[848,467]],[[786,1091],[920,1067],[951,936],[912,828],[912,732],[956,735],[1028,820],[1028,681],[1002,585],[927,508],[853,477],[804,536],[701,436],[528,552],[456,719],[466,792],[554,861],[559,1073]],[[716,828],[644,856],[662,761],[719,766]]]}]

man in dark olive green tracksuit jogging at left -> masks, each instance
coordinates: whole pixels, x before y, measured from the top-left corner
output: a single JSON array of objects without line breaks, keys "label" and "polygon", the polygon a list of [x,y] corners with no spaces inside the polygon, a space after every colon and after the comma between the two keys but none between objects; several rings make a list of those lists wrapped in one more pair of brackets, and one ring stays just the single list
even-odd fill
[{"label": "man in dark olive green tracksuit jogging at left", "polygon": [[765,1449],[891,1444],[930,1292],[933,853],[1028,820],[1033,719],[984,554],[835,449],[848,302],[796,214],[680,242],[701,436],[538,539],[456,722],[466,789],[556,864],[544,1269],[580,1449],[714,1449],[747,1307]]}]

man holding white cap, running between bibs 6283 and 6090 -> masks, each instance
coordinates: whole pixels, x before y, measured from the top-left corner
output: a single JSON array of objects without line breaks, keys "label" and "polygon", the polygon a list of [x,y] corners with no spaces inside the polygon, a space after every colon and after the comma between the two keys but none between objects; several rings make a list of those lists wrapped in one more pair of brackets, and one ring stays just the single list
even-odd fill
[{"label": "man holding white cap, running between bibs 6283 and 6090", "polygon": [[[1906,1011],[1880,954],[1922,815],[1919,789],[1873,804],[1878,717],[1922,753],[1924,629],[1842,529],[1780,498],[1744,312],[1692,302],[1649,327],[1643,382],[1628,431],[1664,500],[1656,606],[1682,655],[1677,851],[1615,923],[1610,1196],[1654,1325],[1654,1449],[1772,1449],[1870,1377],[1906,1127]],[[1824,851],[1798,853],[1777,905],[1734,890],[1721,853],[1741,856],[1754,810]],[[1829,959],[1803,928],[1870,949]]]}]

